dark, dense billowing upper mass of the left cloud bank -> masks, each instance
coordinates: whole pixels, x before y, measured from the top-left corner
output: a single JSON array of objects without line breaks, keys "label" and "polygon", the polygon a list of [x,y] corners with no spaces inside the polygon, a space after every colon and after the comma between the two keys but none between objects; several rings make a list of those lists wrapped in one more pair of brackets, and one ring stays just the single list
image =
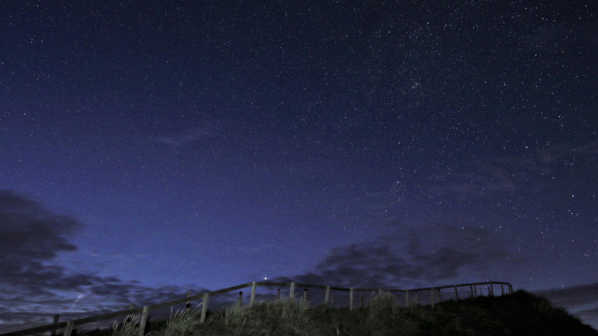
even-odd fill
[{"label": "dark, dense billowing upper mass of the left cloud bank", "polygon": [[77,250],[66,236],[81,226],[12,191],[0,191],[0,282],[35,294],[93,285],[94,277],[67,276],[62,267],[43,264],[59,252]]}]

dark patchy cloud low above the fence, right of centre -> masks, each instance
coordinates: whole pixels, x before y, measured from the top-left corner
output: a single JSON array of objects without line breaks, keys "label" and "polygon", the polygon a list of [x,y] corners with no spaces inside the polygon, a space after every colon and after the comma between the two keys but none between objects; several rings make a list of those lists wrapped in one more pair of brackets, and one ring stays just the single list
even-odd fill
[{"label": "dark patchy cloud low above the fence, right of centre", "polygon": [[332,249],[312,273],[294,276],[302,283],[349,288],[386,288],[454,279],[463,271],[483,271],[490,263],[515,262],[493,231],[484,228],[425,225],[373,242]]}]

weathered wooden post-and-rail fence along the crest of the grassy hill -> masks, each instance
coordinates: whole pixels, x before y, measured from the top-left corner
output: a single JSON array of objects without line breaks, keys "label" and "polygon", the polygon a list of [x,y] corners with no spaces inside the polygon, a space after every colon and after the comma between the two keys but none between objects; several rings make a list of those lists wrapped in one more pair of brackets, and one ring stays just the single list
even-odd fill
[{"label": "weathered wooden post-and-rail fence along the crest of the grassy hill", "polygon": [[[513,288],[512,285],[508,282],[476,282],[476,283],[462,283],[460,285],[449,285],[449,286],[438,286],[438,287],[428,287],[428,288],[416,288],[416,289],[380,289],[380,288],[343,288],[343,287],[334,287],[334,286],[319,286],[319,285],[309,285],[306,283],[295,283],[295,282],[248,282],[243,283],[243,285],[233,286],[229,288],[219,289],[218,291],[213,292],[206,292],[203,294],[196,294],[191,295],[188,294],[187,297],[180,298],[177,300],[166,301],[163,303],[152,304],[149,306],[133,308],[132,306],[127,308],[126,310],[121,311],[113,311],[112,313],[100,314],[96,316],[90,317],[83,317],[81,319],[69,320],[65,322],[57,322],[57,317],[54,317],[54,323],[50,325],[43,325],[43,326],[36,326],[33,328],[22,329],[18,331],[11,331],[5,332],[4,334],[0,334],[0,336],[28,336],[33,334],[42,334],[44,332],[56,331],[63,329],[62,336],[70,336],[73,328],[75,326],[86,325],[88,323],[100,322],[105,320],[114,319],[115,317],[121,316],[131,316],[133,314],[141,313],[141,326],[139,331],[139,336],[144,336],[144,329],[145,329],[145,322],[147,321],[148,312],[154,310],[160,310],[167,307],[176,306],[178,304],[187,304],[187,308],[190,307],[191,301],[202,300],[200,304],[202,306],[202,314],[200,317],[201,322],[205,322],[206,319],[206,312],[208,310],[208,300],[209,297],[225,294],[232,291],[237,291],[239,289],[251,287],[251,298],[249,301],[249,306],[253,306],[256,300],[256,289],[257,287],[289,287],[289,297],[295,297],[295,289],[297,288],[304,288],[303,299],[307,300],[307,288],[312,289],[322,289],[325,291],[325,298],[324,303],[328,304],[332,300],[332,304],[334,305],[334,296],[331,294],[331,291],[341,291],[341,292],[349,292],[349,308],[352,310],[356,305],[354,300],[353,293],[355,292],[390,292],[390,293],[404,293],[405,294],[405,305],[408,306],[410,304],[410,294],[414,294],[414,300],[418,300],[417,294],[420,292],[429,291],[431,293],[431,305],[434,307],[435,303],[435,294],[434,292],[438,292],[438,298],[440,301],[441,298],[441,289],[452,288],[454,291],[454,300],[459,300],[459,292],[457,289],[463,287],[469,287],[471,291],[470,297],[478,297],[478,286],[481,285],[490,285],[488,288],[488,294],[494,295],[493,285],[501,285],[501,295],[505,294],[504,286],[507,286],[508,294],[512,294]],[[475,294],[474,294],[475,291]],[[480,288],[481,291],[481,288]],[[277,297],[280,299],[280,289],[278,289]],[[363,294],[361,294],[361,305],[363,306]],[[413,299],[411,300],[413,302]],[[242,292],[239,292],[239,304],[243,303],[243,295]],[[54,333],[53,333],[54,335]]]}]

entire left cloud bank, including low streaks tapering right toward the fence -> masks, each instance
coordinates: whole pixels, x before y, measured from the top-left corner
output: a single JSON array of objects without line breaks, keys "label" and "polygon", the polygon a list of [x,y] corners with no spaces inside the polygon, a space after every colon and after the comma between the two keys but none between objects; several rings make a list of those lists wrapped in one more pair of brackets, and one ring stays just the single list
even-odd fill
[{"label": "entire left cloud bank, including low streaks tapering right toward the fence", "polygon": [[60,252],[77,250],[68,237],[82,227],[76,219],[52,213],[14,191],[0,191],[0,319],[27,322],[73,309],[90,311],[164,300],[190,289],[205,291],[196,286],[153,288],[48,265]]}]

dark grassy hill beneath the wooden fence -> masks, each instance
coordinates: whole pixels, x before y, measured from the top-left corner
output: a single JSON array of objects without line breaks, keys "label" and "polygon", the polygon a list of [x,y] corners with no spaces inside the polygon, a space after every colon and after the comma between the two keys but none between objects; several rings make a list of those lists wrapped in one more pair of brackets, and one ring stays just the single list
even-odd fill
[{"label": "dark grassy hill beneath the wooden fence", "polygon": [[[353,311],[309,307],[291,300],[267,301],[213,311],[204,324],[199,323],[197,311],[184,311],[152,325],[152,336],[598,336],[598,331],[562,308],[524,291],[446,301],[434,308],[398,307],[388,293],[376,295],[367,307]],[[121,326],[111,336],[133,336],[132,332],[134,328]]]}]

